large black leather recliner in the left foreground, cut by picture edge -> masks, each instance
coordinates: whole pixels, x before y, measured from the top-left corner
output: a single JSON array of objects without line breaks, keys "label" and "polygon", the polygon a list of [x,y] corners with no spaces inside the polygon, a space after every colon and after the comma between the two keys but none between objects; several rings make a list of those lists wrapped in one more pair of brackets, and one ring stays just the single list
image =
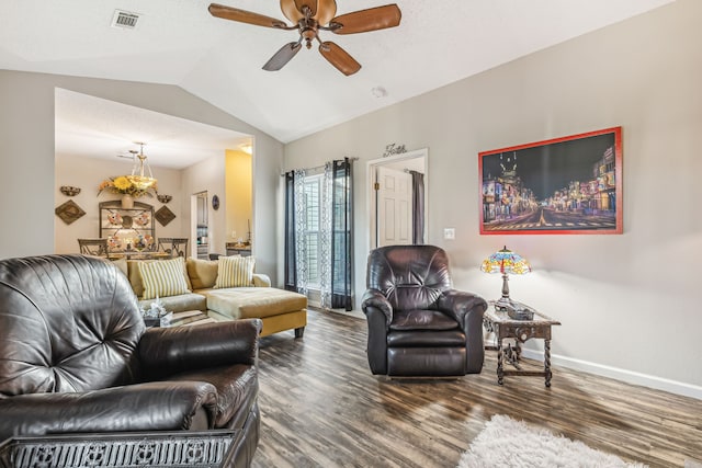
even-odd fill
[{"label": "large black leather recliner in the left foreground, cut by picture edge", "polygon": [[238,429],[259,440],[258,319],[146,329],[129,282],[82,255],[0,261],[0,441]]}]

